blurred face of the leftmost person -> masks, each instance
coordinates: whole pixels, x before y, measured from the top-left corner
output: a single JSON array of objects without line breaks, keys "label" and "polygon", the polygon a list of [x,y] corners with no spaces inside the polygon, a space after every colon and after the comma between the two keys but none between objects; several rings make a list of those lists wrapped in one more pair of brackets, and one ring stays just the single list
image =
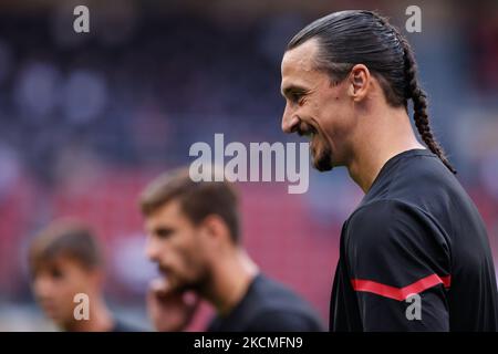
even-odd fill
[{"label": "blurred face of the leftmost person", "polygon": [[75,321],[73,302],[77,293],[93,294],[95,277],[72,258],[59,256],[40,264],[32,289],[48,317],[61,327]]}]

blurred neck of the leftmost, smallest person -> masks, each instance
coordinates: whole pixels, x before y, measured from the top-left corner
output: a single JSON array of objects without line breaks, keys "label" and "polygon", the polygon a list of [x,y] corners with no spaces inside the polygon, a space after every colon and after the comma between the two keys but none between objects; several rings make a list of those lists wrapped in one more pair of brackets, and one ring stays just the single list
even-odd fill
[{"label": "blurred neck of the leftmost, smallest person", "polygon": [[90,305],[89,320],[72,321],[64,325],[68,332],[108,332],[114,321],[103,300],[94,300]]}]

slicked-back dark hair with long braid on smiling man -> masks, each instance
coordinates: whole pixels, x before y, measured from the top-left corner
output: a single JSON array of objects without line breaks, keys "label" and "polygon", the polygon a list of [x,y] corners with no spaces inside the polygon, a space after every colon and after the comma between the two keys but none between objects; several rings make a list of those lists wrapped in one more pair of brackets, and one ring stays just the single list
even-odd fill
[{"label": "slicked-back dark hair with long braid on smiling man", "polygon": [[427,147],[454,174],[448,158],[430,131],[427,95],[417,80],[417,65],[408,41],[378,13],[365,10],[334,12],[307,25],[288,44],[291,50],[310,39],[317,39],[317,65],[333,80],[342,81],[359,63],[369,67],[392,106],[413,101],[413,118]]}]

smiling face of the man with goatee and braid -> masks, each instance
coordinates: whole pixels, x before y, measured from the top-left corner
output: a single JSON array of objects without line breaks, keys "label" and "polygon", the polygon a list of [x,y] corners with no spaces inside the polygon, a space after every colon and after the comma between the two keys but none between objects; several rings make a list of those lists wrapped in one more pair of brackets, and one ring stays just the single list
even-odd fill
[{"label": "smiling face of the man with goatee and braid", "polygon": [[309,136],[314,167],[329,170],[346,163],[355,119],[349,81],[334,83],[326,72],[317,70],[318,45],[309,40],[283,55],[282,129]]}]

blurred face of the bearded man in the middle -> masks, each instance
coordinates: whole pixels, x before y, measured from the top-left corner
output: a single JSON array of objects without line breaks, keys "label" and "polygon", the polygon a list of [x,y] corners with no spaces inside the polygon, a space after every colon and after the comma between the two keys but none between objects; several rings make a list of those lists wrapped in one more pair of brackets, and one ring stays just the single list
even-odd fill
[{"label": "blurred face of the bearded man in the middle", "polygon": [[146,254],[176,291],[199,290],[208,274],[206,244],[196,227],[173,200],[145,219]]}]

